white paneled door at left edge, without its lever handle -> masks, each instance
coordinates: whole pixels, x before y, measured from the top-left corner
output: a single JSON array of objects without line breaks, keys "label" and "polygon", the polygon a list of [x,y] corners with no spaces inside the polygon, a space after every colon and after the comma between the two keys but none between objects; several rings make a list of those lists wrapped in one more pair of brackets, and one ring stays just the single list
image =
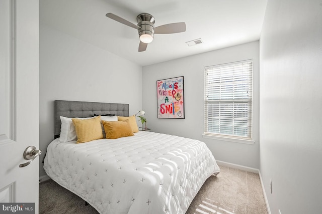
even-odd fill
[{"label": "white paneled door at left edge, without its lever handle", "polygon": [[39,2],[0,0],[0,203],[38,213],[39,157],[19,167],[28,146],[39,148]]}]

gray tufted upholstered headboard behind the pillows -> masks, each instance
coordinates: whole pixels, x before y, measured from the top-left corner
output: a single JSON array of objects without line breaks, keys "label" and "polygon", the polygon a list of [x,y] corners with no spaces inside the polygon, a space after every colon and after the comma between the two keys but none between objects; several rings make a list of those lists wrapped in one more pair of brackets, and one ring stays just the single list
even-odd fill
[{"label": "gray tufted upholstered headboard behind the pillows", "polygon": [[129,116],[129,104],[55,100],[55,133],[60,135],[60,117],[93,117],[94,114]]}]

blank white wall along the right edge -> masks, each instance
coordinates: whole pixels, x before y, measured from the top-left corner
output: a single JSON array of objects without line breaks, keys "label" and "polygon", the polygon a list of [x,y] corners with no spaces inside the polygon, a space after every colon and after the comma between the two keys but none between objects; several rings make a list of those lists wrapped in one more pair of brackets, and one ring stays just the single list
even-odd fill
[{"label": "blank white wall along the right edge", "polygon": [[322,1],[268,1],[260,65],[260,170],[270,209],[321,213]]}]

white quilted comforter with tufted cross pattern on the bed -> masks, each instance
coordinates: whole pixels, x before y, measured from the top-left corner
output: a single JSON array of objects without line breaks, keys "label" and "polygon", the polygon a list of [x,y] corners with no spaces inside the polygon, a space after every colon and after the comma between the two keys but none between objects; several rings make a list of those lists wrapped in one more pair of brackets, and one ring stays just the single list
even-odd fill
[{"label": "white quilted comforter with tufted cross pattern on the bed", "polygon": [[219,167],[205,143],[139,131],[88,143],[52,141],[46,173],[100,213],[185,213]]}]

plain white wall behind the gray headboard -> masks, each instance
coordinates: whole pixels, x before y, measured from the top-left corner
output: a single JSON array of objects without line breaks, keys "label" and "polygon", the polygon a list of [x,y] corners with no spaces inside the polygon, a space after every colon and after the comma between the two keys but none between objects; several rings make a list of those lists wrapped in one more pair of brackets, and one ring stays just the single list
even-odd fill
[{"label": "plain white wall behind the gray headboard", "polygon": [[[142,105],[142,67],[40,24],[39,144],[54,138],[54,100]],[[40,176],[45,175],[40,161]]]}]

